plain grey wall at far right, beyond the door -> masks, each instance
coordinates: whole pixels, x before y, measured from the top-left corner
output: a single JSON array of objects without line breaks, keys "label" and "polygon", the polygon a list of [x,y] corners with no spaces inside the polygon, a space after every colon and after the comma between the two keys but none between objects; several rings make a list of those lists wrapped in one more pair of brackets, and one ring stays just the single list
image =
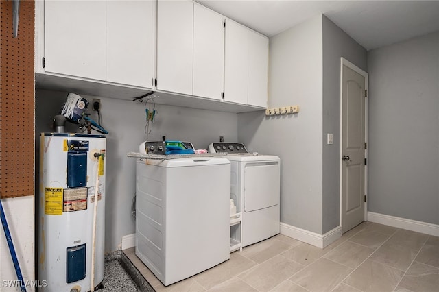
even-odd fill
[{"label": "plain grey wall at far right, beyond the door", "polygon": [[439,32],[368,52],[368,210],[439,224]]}]

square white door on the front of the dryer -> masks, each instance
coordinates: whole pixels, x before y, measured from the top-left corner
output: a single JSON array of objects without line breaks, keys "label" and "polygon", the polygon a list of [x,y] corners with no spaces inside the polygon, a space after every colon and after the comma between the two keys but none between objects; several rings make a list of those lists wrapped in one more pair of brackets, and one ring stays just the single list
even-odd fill
[{"label": "square white door on the front of the dryer", "polygon": [[244,210],[252,212],[279,204],[281,173],[278,161],[247,163],[244,168]]}]

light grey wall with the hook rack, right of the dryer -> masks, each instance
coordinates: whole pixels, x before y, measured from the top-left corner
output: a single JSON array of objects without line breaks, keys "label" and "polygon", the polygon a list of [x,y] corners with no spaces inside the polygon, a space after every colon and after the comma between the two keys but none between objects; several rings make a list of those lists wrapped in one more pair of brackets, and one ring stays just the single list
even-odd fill
[{"label": "light grey wall with the hook rack, right of the dryer", "polygon": [[270,38],[268,106],[300,113],[238,114],[249,151],[281,158],[281,222],[322,232],[322,16]]}]

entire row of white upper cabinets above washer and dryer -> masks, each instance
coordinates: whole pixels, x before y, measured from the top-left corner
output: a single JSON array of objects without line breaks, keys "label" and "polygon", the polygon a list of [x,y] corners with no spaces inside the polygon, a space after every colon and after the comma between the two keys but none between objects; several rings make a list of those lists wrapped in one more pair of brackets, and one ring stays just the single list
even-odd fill
[{"label": "entire row of white upper cabinets above washer and dryer", "polygon": [[120,86],[129,99],[157,90],[218,109],[267,106],[268,38],[199,3],[41,0],[35,7],[38,86],[90,95]]}]

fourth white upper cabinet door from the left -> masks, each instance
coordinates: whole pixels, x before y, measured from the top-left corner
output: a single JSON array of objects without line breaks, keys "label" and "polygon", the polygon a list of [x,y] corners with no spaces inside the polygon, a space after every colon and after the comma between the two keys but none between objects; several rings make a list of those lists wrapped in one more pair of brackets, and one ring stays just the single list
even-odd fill
[{"label": "fourth white upper cabinet door from the left", "polygon": [[193,95],[222,99],[224,90],[224,16],[193,7]]}]

